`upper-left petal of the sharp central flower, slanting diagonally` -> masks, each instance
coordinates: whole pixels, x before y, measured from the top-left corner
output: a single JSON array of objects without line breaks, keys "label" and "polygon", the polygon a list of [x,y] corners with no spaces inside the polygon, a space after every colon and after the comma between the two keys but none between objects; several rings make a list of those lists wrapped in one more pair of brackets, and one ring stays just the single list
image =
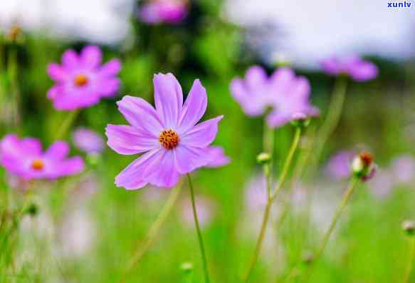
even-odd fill
[{"label": "upper-left petal of the sharp central flower, slanting diagonally", "polygon": [[124,96],[117,102],[118,109],[127,121],[144,132],[158,138],[164,130],[162,123],[152,106],[142,98]]}]

